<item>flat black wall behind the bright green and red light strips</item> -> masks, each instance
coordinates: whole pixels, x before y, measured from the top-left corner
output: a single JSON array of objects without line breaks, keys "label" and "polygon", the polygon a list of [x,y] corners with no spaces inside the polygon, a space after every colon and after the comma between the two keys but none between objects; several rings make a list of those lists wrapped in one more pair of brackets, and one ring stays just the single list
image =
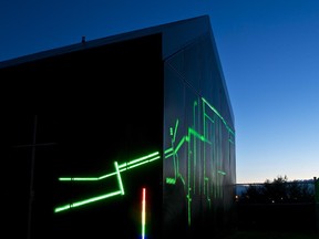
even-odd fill
[{"label": "flat black wall behind the bright green and red light strips", "polygon": [[[0,70],[10,93],[6,106],[19,113],[6,114],[2,124],[9,142],[3,158],[9,238],[137,238],[143,187],[146,235],[161,237],[161,45],[156,34]],[[103,176],[115,172],[114,162],[153,152],[161,158],[121,172],[123,196],[54,214],[59,206],[119,190],[115,176],[93,183],[59,177]]]}]

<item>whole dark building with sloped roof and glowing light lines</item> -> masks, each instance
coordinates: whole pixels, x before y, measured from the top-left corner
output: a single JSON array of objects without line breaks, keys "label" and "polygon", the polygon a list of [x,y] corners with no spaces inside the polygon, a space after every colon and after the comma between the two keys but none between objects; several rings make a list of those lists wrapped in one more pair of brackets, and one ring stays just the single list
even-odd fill
[{"label": "whole dark building with sloped roof and glowing light lines", "polygon": [[19,113],[2,124],[12,238],[233,226],[234,116],[207,15],[4,61],[0,77]]}]

